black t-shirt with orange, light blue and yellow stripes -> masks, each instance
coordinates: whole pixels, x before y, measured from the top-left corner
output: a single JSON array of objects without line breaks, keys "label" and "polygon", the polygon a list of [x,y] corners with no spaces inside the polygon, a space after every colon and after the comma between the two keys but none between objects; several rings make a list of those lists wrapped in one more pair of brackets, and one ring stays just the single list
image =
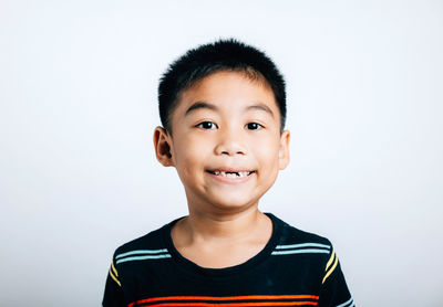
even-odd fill
[{"label": "black t-shirt with orange, light blue and yellow stripes", "polygon": [[331,243],[266,214],[269,242],[231,267],[204,268],[183,257],[171,237],[178,220],[120,246],[103,306],[354,306]]}]

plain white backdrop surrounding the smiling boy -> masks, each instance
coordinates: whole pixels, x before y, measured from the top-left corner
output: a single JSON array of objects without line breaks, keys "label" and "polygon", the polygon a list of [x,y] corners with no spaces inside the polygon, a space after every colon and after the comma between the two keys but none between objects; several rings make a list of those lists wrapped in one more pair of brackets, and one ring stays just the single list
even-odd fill
[{"label": "plain white backdrop surrounding the smiling boy", "polygon": [[261,210],[329,237],[358,306],[443,306],[443,2],[0,2],[0,305],[99,306],[115,247],[186,214],[157,82],[234,36],[288,84]]}]

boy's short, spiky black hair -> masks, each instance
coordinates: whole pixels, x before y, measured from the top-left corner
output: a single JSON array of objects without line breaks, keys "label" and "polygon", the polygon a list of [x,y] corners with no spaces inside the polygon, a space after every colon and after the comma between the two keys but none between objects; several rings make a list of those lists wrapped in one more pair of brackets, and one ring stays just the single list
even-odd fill
[{"label": "boy's short, spiky black hair", "polygon": [[265,81],[274,92],[280,110],[280,130],[284,130],[286,89],[282,75],[264,52],[235,39],[218,40],[192,49],[174,61],[163,74],[158,85],[158,109],[166,130],[172,133],[171,115],[183,91],[220,71],[238,71],[254,80]]}]

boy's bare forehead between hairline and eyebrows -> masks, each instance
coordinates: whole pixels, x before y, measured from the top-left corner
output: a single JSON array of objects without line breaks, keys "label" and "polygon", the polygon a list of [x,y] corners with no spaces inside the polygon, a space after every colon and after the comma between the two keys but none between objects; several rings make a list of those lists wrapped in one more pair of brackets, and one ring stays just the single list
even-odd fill
[{"label": "boy's bare forehead between hairline and eyebrows", "polygon": [[253,77],[244,72],[216,72],[196,82],[183,91],[174,114],[178,117],[185,116],[195,103],[210,104],[215,108],[208,109],[214,110],[234,110],[254,104],[261,105],[279,117],[278,105],[268,83],[261,77]]}]

